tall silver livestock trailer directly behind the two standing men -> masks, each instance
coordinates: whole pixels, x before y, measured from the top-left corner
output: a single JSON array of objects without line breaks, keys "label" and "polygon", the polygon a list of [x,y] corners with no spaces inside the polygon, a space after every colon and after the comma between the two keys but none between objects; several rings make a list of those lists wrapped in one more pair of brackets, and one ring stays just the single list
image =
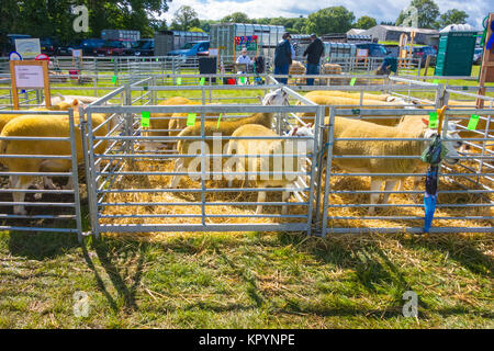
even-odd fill
[{"label": "tall silver livestock trailer directly behind the two standing men", "polygon": [[[240,55],[243,45],[238,45],[236,38],[256,37],[257,45],[245,45],[247,54],[255,56],[274,57],[274,49],[282,39],[283,25],[262,25],[245,23],[218,23],[211,25],[211,48],[220,49],[220,55],[225,64],[235,61]],[[247,43],[247,42],[246,42]],[[236,45],[237,44],[237,45]]]}]

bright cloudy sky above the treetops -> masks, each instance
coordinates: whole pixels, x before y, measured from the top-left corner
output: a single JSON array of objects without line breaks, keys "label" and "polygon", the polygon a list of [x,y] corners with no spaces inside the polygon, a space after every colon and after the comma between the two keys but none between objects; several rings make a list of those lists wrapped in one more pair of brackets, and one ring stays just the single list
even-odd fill
[{"label": "bright cloudy sky above the treetops", "polygon": [[[307,16],[317,10],[344,5],[352,11],[358,19],[362,15],[370,15],[381,21],[394,22],[400,11],[409,5],[411,0],[172,0],[170,9],[161,16],[171,24],[175,11],[181,5],[192,7],[199,14],[200,20],[221,20],[233,12],[245,12],[251,19],[258,18],[296,18]],[[435,0],[439,11],[446,12],[451,9],[465,11],[470,16],[468,23],[475,29],[482,29],[482,20],[494,11],[494,0]]]}]

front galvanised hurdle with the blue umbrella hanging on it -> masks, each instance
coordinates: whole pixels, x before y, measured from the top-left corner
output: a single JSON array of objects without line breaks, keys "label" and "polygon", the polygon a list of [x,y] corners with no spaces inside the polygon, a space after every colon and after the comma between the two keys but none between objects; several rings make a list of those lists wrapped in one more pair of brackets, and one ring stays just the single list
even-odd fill
[{"label": "front galvanised hurdle with the blue umbrella hanging on it", "polygon": [[[359,115],[361,118],[371,117],[371,116],[396,116],[396,115],[425,115],[427,116],[429,112],[434,110],[374,110],[374,109],[361,109],[359,111],[352,111],[348,109],[338,109],[338,107],[330,107],[329,118],[328,123],[325,122],[323,125],[321,125],[321,131],[328,133],[328,139],[327,139],[327,150],[325,150],[327,157],[325,162],[325,181],[323,182],[324,189],[318,190],[318,192],[322,191],[323,193],[323,202],[322,202],[322,211],[319,212],[319,207],[317,207],[317,213],[322,215],[322,217],[317,217],[317,222],[321,219],[321,228],[322,228],[322,235],[325,236],[327,234],[361,234],[361,233],[415,233],[419,234],[423,233],[422,227],[412,227],[407,226],[404,223],[409,220],[423,220],[422,216],[411,216],[406,215],[405,213],[403,215],[375,215],[375,216],[367,216],[367,215],[332,215],[332,211],[335,208],[360,208],[360,207],[369,207],[369,203],[344,203],[344,204],[336,204],[332,202],[332,195],[358,195],[358,194],[372,194],[372,193],[379,193],[379,194],[417,194],[420,195],[424,193],[424,190],[417,190],[417,191],[395,191],[395,190],[385,190],[385,191],[369,191],[369,190],[359,190],[359,189],[348,189],[348,190],[335,190],[332,188],[332,180],[335,178],[347,178],[347,177],[370,177],[370,176],[397,176],[397,177],[425,177],[425,173],[362,173],[362,172],[345,172],[339,171],[333,166],[333,161],[335,158],[403,158],[404,156],[400,155],[379,155],[379,156],[349,156],[349,155],[334,155],[333,154],[333,146],[338,140],[343,141],[346,139],[341,138],[335,138],[334,136],[334,125],[335,125],[335,118],[336,116],[345,116],[345,117],[356,117]],[[491,115],[494,112],[494,110],[478,110],[478,109],[471,109],[471,110],[447,110],[445,115],[445,124],[448,121],[454,120],[456,116],[461,114],[480,114],[480,115]],[[446,129],[442,133],[442,138],[445,140],[448,140],[446,137]],[[474,138],[472,140],[478,140],[482,143],[486,143],[490,139],[489,136],[484,135],[482,138]],[[321,138],[323,140],[323,138]],[[403,138],[358,138],[361,143],[372,143],[374,140],[388,140],[388,141],[396,141],[396,140],[405,140]],[[418,140],[418,139],[415,139]],[[321,145],[321,147],[324,147]],[[323,152],[321,154],[323,155]],[[419,156],[408,156],[407,158],[416,158],[419,159]],[[469,159],[482,159],[482,160],[492,160],[493,156],[486,156],[486,155],[480,155],[480,156],[462,156],[462,160],[469,160]],[[323,158],[319,159],[319,162],[323,162]],[[492,171],[486,170],[480,173],[479,176],[483,179],[490,178],[492,180]],[[450,168],[447,166],[444,166],[441,169],[441,172],[439,173],[440,179],[452,179],[457,181],[459,178],[469,177],[471,173],[465,173],[464,171],[461,171],[459,167]],[[464,186],[463,186],[464,188]],[[484,223],[484,226],[478,226],[478,227],[433,227],[430,229],[430,233],[492,233],[494,231],[494,228],[492,226],[492,220],[494,219],[494,216],[492,215],[492,207],[494,206],[494,203],[492,201],[492,193],[493,191],[490,188],[482,186],[482,189],[475,189],[471,190],[468,188],[464,189],[454,189],[454,190],[441,190],[441,184],[439,184],[439,200],[437,208],[486,208],[490,211],[490,215],[479,215],[479,216],[469,216],[469,215],[451,215],[451,216],[436,216],[436,220],[446,219],[446,220],[480,220]],[[464,195],[476,195],[482,196],[483,200],[480,200],[475,203],[456,203],[456,204],[441,204],[440,199],[441,194],[464,194]],[[406,203],[390,203],[390,204],[375,204],[375,207],[378,208],[412,208],[412,207],[423,207],[422,204],[422,196],[419,196],[419,202],[415,202],[412,204]],[[480,197],[478,197],[480,199]],[[317,202],[317,206],[319,206],[319,202]],[[350,226],[350,225],[338,225],[338,220],[346,220],[346,222],[352,222],[352,220],[360,220],[366,223],[366,226],[357,227],[357,226]],[[379,227],[379,226],[372,226],[370,223],[375,220],[388,220],[395,223],[395,226],[391,227]]]}]

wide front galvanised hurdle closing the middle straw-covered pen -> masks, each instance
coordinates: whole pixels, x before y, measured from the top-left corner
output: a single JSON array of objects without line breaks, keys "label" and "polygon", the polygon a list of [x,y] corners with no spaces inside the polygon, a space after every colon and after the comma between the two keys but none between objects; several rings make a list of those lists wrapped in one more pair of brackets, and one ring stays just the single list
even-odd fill
[{"label": "wide front galvanised hurdle closing the middle straw-covered pen", "polygon": [[[262,87],[265,88],[265,87]],[[278,86],[277,86],[278,88]],[[130,87],[127,89],[138,89],[136,84]],[[127,102],[132,104],[132,101]],[[144,135],[144,131],[139,131],[135,128],[135,124],[138,124],[138,116],[143,112],[149,113],[198,113],[201,115],[201,135],[191,136],[191,137],[179,137],[179,136],[146,136]],[[316,118],[321,118],[324,114],[323,107],[321,106],[260,106],[260,105],[247,105],[247,104],[238,104],[238,105],[184,105],[184,106],[156,106],[156,105],[127,105],[127,106],[100,106],[98,104],[92,104],[87,107],[87,123],[88,123],[88,150],[89,158],[88,165],[89,168],[89,184],[88,191],[91,193],[91,218],[92,218],[92,230],[96,235],[100,233],[121,233],[121,231],[131,231],[131,233],[146,233],[146,231],[306,231],[311,234],[312,231],[312,217],[313,217],[313,208],[314,208],[314,184],[315,181],[315,168],[305,169],[296,172],[292,172],[291,174],[297,177],[306,178],[306,188],[295,189],[296,192],[305,192],[307,194],[306,201],[299,202],[290,202],[288,205],[290,207],[301,206],[303,211],[297,214],[289,214],[289,215],[280,215],[278,213],[268,214],[262,213],[260,215],[252,215],[251,213],[231,213],[231,214],[212,214],[210,212],[211,208],[217,206],[256,206],[259,203],[255,201],[211,201],[207,197],[211,197],[211,194],[221,194],[221,193],[235,193],[236,195],[243,193],[255,193],[258,191],[268,191],[268,192],[282,192],[289,189],[279,189],[279,188],[269,188],[269,189],[257,189],[257,188],[227,188],[221,186],[220,184],[213,183],[210,185],[206,180],[210,177],[225,177],[225,176],[235,176],[236,172],[226,172],[216,170],[210,171],[206,170],[205,167],[201,168],[199,172],[176,172],[168,171],[165,168],[156,168],[144,171],[133,171],[133,165],[138,162],[149,162],[149,160],[159,160],[159,163],[164,165],[167,161],[173,161],[184,157],[195,157],[193,155],[184,156],[184,155],[162,155],[162,154],[149,154],[143,152],[139,149],[139,143],[142,141],[178,141],[178,140],[214,140],[217,139],[217,136],[207,136],[205,135],[205,122],[207,113],[215,114],[245,114],[245,113],[300,113],[300,112],[312,112],[316,114]],[[112,113],[120,114],[125,116],[127,122],[124,125],[133,127],[126,129],[123,135],[112,135],[109,134],[104,137],[96,137],[91,132],[91,114],[93,113]],[[290,139],[291,137],[279,136],[279,137],[258,137],[256,139]],[[223,137],[223,140],[233,139],[231,136]],[[318,144],[317,135],[314,137],[307,137],[310,143],[314,143],[314,146]],[[102,140],[109,141],[109,145],[126,145],[121,149],[115,149],[112,147],[108,147],[103,154],[94,152],[94,145]],[[224,157],[228,158],[223,151],[216,154],[214,151],[213,155],[209,155],[205,151],[204,143],[201,144],[201,165],[205,166],[206,158],[211,157]],[[287,155],[271,155],[267,157],[285,157]],[[238,157],[238,155],[237,155]],[[260,157],[263,157],[261,155]],[[316,152],[314,155],[308,155],[312,159],[312,162],[315,163]],[[91,167],[92,163],[97,165],[98,162],[102,162],[103,160],[108,161],[108,165],[121,165],[115,166],[112,169],[102,169],[98,171],[97,167]],[[124,170],[124,167],[127,167]],[[128,170],[131,169],[131,170]],[[261,172],[262,173],[262,172]],[[279,174],[282,171],[274,171],[272,174]],[[162,184],[159,189],[133,189],[126,188],[126,179],[130,177],[172,177],[172,176],[186,176],[186,177],[200,177],[200,183],[195,188],[188,189],[167,189],[166,184]],[[244,174],[244,173],[243,173]],[[250,172],[246,173],[247,176],[251,176]],[[178,201],[175,202],[142,202],[138,201],[139,196],[143,194],[182,194],[182,196],[191,196],[195,194],[197,201]],[[114,194],[130,194],[135,199],[134,202],[114,202],[111,200],[111,196]],[[296,197],[296,195],[295,195]],[[281,206],[284,205],[284,202],[267,202],[263,203],[265,206]],[[164,206],[162,213],[142,213],[137,208],[143,208],[146,206]],[[200,212],[197,214],[190,213],[167,213],[165,208],[167,206],[175,207],[184,207],[192,208],[199,207]],[[130,208],[134,207],[132,212],[137,212],[133,214],[128,214],[128,212],[123,211],[124,214],[108,214],[105,210],[109,207],[116,208]],[[245,222],[247,218],[247,222]],[[172,222],[173,219],[182,220],[182,222]],[[244,222],[240,223],[232,223],[234,220],[242,219]],[[255,223],[252,219],[273,219],[277,223]],[[115,220],[125,220],[125,224],[114,224]],[[154,220],[155,223],[146,223],[146,220]],[[171,222],[170,222],[171,220]],[[223,223],[217,223],[217,220],[223,220]],[[224,222],[231,223],[224,223]],[[156,223],[158,222],[158,223]],[[187,222],[187,223],[183,223]]]}]

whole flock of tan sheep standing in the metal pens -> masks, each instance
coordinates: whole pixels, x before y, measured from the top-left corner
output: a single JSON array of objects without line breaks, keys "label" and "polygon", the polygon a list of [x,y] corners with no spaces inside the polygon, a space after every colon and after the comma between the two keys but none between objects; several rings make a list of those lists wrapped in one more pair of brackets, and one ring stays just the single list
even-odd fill
[{"label": "whole flock of tan sheep standing in the metal pens", "polygon": [[[360,93],[347,93],[340,91],[312,91],[305,95],[308,100],[321,105],[360,105]],[[56,98],[55,104],[50,109],[33,109],[30,111],[45,110],[45,111],[67,111],[72,107],[75,111],[76,125],[79,121],[79,103],[93,102],[96,98],[86,97],[65,97]],[[263,101],[263,105],[287,105],[289,97],[283,89],[278,89],[268,93]],[[394,98],[386,94],[364,94],[363,105],[373,105],[379,109],[393,109],[403,106],[404,101],[395,101]],[[160,103],[160,105],[187,105],[194,104],[191,100],[181,97],[175,97]],[[29,111],[26,112],[29,113]],[[150,118],[149,136],[200,136],[201,124],[198,122],[193,126],[187,126],[184,122],[184,114],[153,114]],[[301,121],[308,123],[313,120],[311,114],[300,114]],[[260,154],[285,154],[288,139],[276,139],[278,136],[272,129],[273,114],[272,113],[257,113],[249,117],[224,121],[218,126],[216,122],[207,121],[204,125],[204,133],[206,136],[213,136],[215,133],[221,133],[223,137],[272,137],[272,139],[265,140],[263,149]],[[50,137],[68,137],[69,124],[67,116],[60,115],[5,115],[0,114],[0,132],[1,137],[25,137],[25,136],[50,136]],[[325,124],[328,124],[328,116],[326,114]],[[109,121],[104,114],[92,114],[92,125],[97,128],[96,136],[104,136],[115,127],[115,121]],[[98,126],[100,126],[98,128]],[[461,133],[457,129],[457,123],[450,122],[444,127],[447,129],[449,141],[444,143],[447,149],[446,161],[454,165],[459,160],[459,154],[456,149],[461,146]],[[158,131],[158,132],[156,132]],[[301,125],[292,128],[289,135],[302,138],[304,150],[307,154],[313,152],[313,140],[310,137],[314,136],[314,127],[310,124]],[[422,152],[430,145],[430,141],[436,136],[436,131],[428,128],[428,121],[423,116],[408,115],[396,116],[390,118],[374,118],[374,120],[355,120],[346,117],[336,117],[334,123],[334,137],[345,138],[345,140],[337,140],[333,146],[334,156],[358,156],[357,158],[340,158],[336,157],[333,165],[337,166],[347,172],[369,173],[375,174],[371,177],[371,190],[381,191],[382,183],[385,183],[385,191],[394,190],[396,182],[403,177],[392,176],[393,173],[417,173],[424,172],[423,163],[418,158]],[[327,129],[323,136],[324,144],[328,141]],[[359,138],[403,138],[407,140],[372,140],[361,141]],[[189,152],[190,139],[179,139],[176,147],[179,155]],[[213,143],[206,140],[205,143]],[[226,148],[226,154],[233,155],[234,149],[240,147],[242,155],[258,155],[259,143],[251,139],[237,139],[228,143],[228,139],[223,139],[222,147]],[[82,161],[82,146],[80,140],[80,133],[76,129],[76,145],[77,145],[77,160]],[[156,148],[157,143],[146,143],[146,149]],[[209,145],[212,150],[212,145]],[[105,143],[99,143],[96,154],[102,154],[106,148]],[[222,148],[223,149],[223,148]],[[0,140],[0,163],[10,172],[68,172],[71,169],[71,161],[69,159],[43,159],[43,158],[2,158],[1,155],[70,155],[70,145],[67,141],[45,141],[42,139],[35,141],[1,139]],[[404,156],[404,158],[380,158],[379,156]],[[183,176],[179,173],[184,172],[192,158],[177,158],[175,162],[175,172],[177,173],[169,188],[177,189],[180,179]],[[247,169],[248,160],[246,157],[240,157],[240,165]],[[256,160],[255,169],[260,171],[266,167],[270,171],[273,170],[273,163],[262,165],[261,158]],[[295,165],[294,171],[300,171],[300,163]],[[251,170],[251,168],[249,168]],[[390,174],[390,176],[385,176]],[[266,180],[260,177],[250,179],[255,182],[255,186],[259,189],[268,186],[293,188],[294,180],[291,177],[282,176],[276,180]],[[33,176],[12,176],[10,177],[10,186],[12,189],[23,190],[33,184]],[[45,186],[55,189],[53,182],[45,178]],[[71,189],[72,184],[66,185]],[[289,200],[290,192],[283,192],[283,202]],[[384,203],[388,202],[389,193],[384,195]],[[13,200],[18,203],[14,206],[14,214],[26,215],[23,203],[25,193],[14,192]],[[261,203],[266,200],[266,192],[259,191],[257,214],[262,213]],[[374,213],[374,206],[378,203],[379,193],[372,193],[370,196],[369,213]],[[287,206],[283,206],[282,214],[287,214]]]}]

